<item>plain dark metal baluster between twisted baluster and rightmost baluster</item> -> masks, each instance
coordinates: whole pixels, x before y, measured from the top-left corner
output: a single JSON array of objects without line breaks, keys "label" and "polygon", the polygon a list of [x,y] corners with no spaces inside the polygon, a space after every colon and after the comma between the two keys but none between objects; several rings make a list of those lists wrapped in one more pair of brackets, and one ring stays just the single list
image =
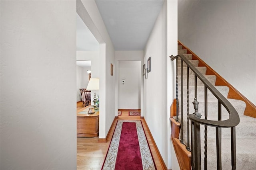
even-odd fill
[{"label": "plain dark metal baluster between twisted baluster and rightmost baluster", "polygon": [[[218,120],[221,120],[221,103],[218,100]],[[217,169],[221,170],[221,127],[216,127]]]}]

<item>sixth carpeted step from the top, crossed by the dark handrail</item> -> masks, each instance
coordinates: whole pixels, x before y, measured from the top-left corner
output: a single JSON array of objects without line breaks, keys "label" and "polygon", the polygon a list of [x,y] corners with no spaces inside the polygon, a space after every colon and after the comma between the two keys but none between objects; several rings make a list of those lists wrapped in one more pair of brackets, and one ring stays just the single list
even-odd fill
[{"label": "sixth carpeted step from the top, crossed by the dark handrail", "polygon": [[[181,76],[178,76],[178,84],[181,84],[180,80]],[[213,85],[215,85],[216,82],[216,76],[215,75],[206,75],[206,79]],[[195,83],[195,76],[189,76],[189,85],[194,86]],[[183,85],[187,85],[187,76],[183,76]],[[197,86],[204,86],[204,84],[201,82],[199,78],[197,78]]]}]

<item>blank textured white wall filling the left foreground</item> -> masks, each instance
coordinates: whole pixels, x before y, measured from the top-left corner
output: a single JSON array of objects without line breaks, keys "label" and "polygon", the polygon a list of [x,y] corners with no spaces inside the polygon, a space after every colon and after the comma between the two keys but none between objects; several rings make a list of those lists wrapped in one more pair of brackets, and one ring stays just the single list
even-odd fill
[{"label": "blank textured white wall filling the left foreground", "polygon": [[0,169],[74,170],[76,1],[0,3]]}]

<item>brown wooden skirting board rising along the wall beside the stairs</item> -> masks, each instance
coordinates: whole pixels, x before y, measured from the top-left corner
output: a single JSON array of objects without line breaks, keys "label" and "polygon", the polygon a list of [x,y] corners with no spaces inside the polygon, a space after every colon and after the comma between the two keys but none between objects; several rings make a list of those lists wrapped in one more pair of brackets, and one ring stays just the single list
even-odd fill
[{"label": "brown wooden skirting board rising along the wall beside the stairs", "polygon": [[192,60],[198,60],[198,66],[205,66],[206,67],[206,75],[215,75],[216,76],[216,86],[228,86],[228,98],[242,100],[246,103],[246,108],[244,111],[244,115],[256,118],[256,106],[250,102],[244,95],[242,95],[236,88],[234,88],[231,84],[229,84],[220,74],[214,71],[208,64],[206,64],[202,59],[200,59],[195,53],[193,53],[188,47],[182,44],[178,40],[179,45],[182,45],[182,49],[187,50],[187,54],[192,54]]}]

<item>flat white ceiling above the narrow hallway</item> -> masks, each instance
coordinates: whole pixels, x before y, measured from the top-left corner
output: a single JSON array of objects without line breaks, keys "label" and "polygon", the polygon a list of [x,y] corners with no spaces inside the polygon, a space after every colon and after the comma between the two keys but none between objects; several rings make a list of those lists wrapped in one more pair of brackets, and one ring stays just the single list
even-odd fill
[{"label": "flat white ceiling above the narrow hallway", "polygon": [[144,50],[163,0],[95,0],[116,51]]}]

